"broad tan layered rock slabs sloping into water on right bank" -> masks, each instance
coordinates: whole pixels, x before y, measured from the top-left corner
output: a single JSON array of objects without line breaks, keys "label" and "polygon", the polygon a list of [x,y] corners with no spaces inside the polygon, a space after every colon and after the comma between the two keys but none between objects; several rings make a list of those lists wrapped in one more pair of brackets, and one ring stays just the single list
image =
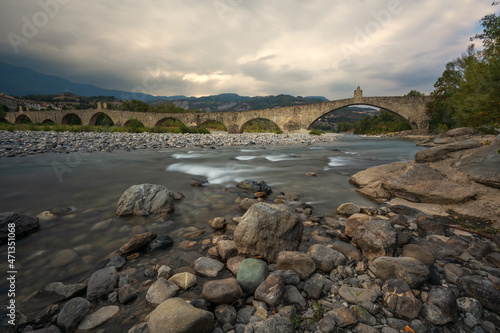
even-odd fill
[{"label": "broad tan layered rock slabs sloping into water on right bank", "polygon": [[500,135],[453,130],[427,140],[415,160],[358,172],[360,193],[426,214],[461,215],[500,226]]}]

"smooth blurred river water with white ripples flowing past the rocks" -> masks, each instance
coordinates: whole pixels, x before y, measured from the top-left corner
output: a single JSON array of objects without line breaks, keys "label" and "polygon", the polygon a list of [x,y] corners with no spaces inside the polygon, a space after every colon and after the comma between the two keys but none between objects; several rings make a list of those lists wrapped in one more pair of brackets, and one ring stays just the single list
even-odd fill
[{"label": "smooth blurred river water with white ripples flowing past the rocks", "polygon": [[[54,208],[70,209],[53,220],[41,222],[38,232],[16,242],[16,297],[22,300],[50,282],[81,282],[90,276],[93,267],[138,231],[175,236],[176,230],[194,225],[208,233],[210,219],[241,216],[236,203],[239,194],[232,189],[236,182],[246,178],[265,180],[275,193],[296,194],[301,202],[310,203],[319,216],[335,217],[336,208],[344,202],[376,206],[355,192],[349,177],[375,165],[410,160],[420,149],[410,140],[346,135],[335,142],[314,146],[2,158],[0,211],[35,216]],[[317,177],[305,176],[311,171]],[[214,185],[191,187],[196,175],[208,178]],[[142,183],[165,185],[182,192],[186,198],[176,202],[175,212],[166,218],[116,218],[121,194],[129,186]],[[0,246],[0,253],[0,271],[6,272],[6,244]],[[175,251],[161,256],[156,261],[175,266],[178,260],[169,257],[178,256]],[[2,279],[0,304],[7,299],[7,289]]]}]

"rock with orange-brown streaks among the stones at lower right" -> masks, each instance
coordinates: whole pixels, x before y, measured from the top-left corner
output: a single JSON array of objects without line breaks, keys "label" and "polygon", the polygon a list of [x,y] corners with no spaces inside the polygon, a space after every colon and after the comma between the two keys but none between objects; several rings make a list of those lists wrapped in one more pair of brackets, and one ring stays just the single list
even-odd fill
[{"label": "rock with orange-brown streaks among the stones at lower right", "polygon": [[397,279],[387,280],[382,286],[385,305],[406,319],[414,319],[418,316],[422,302],[412,293],[410,286]]}]

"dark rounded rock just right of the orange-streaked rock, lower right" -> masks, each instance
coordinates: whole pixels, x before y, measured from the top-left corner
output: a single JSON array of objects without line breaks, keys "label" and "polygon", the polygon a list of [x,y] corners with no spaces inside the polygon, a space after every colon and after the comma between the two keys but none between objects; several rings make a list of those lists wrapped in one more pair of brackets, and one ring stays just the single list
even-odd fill
[{"label": "dark rounded rock just right of the orange-streaked rock, lower right", "polygon": [[432,286],[426,304],[426,318],[434,325],[455,322],[458,318],[456,296],[452,289]]}]

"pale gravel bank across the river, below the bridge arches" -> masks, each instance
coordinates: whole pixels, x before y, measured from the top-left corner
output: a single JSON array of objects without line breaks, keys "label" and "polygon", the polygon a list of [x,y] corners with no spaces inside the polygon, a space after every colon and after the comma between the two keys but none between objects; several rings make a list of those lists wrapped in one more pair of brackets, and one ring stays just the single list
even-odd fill
[{"label": "pale gravel bank across the river, below the bridge arches", "polygon": [[111,152],[114,150],[221,147],[248,145],[310,145],[336,140],[334,134],[243,133],[175,134],[122,132],[0,131],[0,157],[43,153]]}]

